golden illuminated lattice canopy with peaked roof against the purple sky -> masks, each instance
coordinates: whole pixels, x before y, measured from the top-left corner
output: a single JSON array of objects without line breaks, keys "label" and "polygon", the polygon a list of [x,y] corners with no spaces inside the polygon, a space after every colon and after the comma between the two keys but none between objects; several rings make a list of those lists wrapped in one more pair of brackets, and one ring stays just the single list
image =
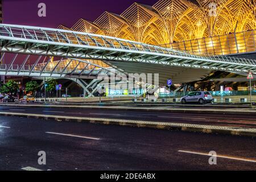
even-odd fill
[{"label": "golden illuminated lattice canopy with peaked roof against the purple sky", "polygon": [[255,15],[255,0],[160,0],[133,3],[121,15],[105,12],[94,22],[80,19],[71,30],[160,45],[255,30]]}]

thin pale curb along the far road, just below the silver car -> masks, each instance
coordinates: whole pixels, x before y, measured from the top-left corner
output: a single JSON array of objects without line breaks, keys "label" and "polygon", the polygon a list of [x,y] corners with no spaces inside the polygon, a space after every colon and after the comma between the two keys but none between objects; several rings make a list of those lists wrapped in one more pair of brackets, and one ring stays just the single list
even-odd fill
[{"label": "thin pale curb along the far road, just below the silver car", "polygon": [[157,111],[157,112],[168,112],[168,113],[189,113],[189,114],[241,114],[241,115],[248,115],[248,114],[256,114],[256,110],[231,110],[231,109],[184,109],[184,108],[148,108],[148,107],[111,107],[111,106],[68,106],[68,105],[6,105],[0,104],[0,106],[17,106],[17,107],[49,107],[49,108],[56,108],[56,107],[65,107],[65,108],[77,108],[77,109],[105,109],[105,110],[124,110],[124,111]]}]

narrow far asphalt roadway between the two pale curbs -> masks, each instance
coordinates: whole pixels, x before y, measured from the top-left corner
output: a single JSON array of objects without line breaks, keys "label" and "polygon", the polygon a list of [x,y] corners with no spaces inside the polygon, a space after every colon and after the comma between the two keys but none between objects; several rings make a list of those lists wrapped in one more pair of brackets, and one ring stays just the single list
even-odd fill
[{"label": "narrow far asphalt roadway between the two pale curbs", "polygon": [[106,109],[85,109],[67,107],[36,106],[0,106],[0,111],[14,113],[67,115],[74,117],[129,119],[138,121],[192,123],[200,125],[218,125],[231,127],[256,127],[256,115],[223,115],[223,114],[191,114],[168,113],[161,111],[124,111]]}]

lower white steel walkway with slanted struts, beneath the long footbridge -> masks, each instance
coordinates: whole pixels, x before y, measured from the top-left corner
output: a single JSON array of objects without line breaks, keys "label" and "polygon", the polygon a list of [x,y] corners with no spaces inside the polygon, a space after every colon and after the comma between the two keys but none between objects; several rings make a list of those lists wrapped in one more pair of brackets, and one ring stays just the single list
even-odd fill
[{"label": "lower white steel walkway with slanted struts, beneath the long footbridge", "polygon": [[[1,60],[5,55],[6,53],[2,54]],[[118,73],[116,71],[114,72],[113,68],[104,68],[100,65],[80,59],[61,58],[54,61],[54,65],[50,65],[52,64],[52,57],[45,57],[44,63],[39,64],[39,61],[42,60],[42,56],[39,56],[34,64],[26,65],[32,55],[27,55],[26,58],[22,60],[22,64],[14,64],[17,57],[18,54],[15,54],[10,64],[0,64],[0,75],[96,79],[99,75],[109,75],[112,72],[115,74]],[[76,64],[76,66],[74,67],[71,64]],[[81,64],[84,65],[84,67],[79,67]]]}]

